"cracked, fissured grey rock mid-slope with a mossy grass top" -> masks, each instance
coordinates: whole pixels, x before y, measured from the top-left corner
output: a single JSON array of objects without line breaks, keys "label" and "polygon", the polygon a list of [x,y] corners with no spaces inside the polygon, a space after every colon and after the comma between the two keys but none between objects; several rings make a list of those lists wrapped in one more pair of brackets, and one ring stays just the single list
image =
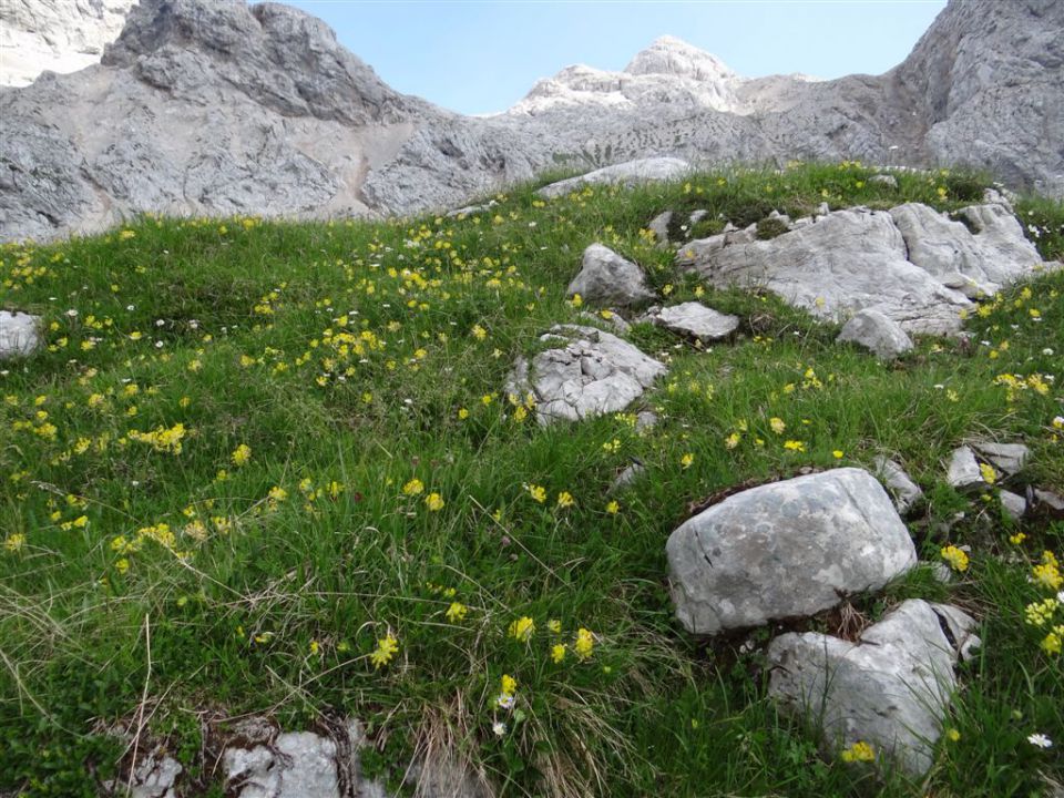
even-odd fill
[{"label": "cracked, fissured grey rock mid-slope with a mossy grass top", "polygon": [[540,340],[557,346],[519,358],[505,390],[536,401],[540,424],[624,410],[668,369],[610,332],[555,325]]}]

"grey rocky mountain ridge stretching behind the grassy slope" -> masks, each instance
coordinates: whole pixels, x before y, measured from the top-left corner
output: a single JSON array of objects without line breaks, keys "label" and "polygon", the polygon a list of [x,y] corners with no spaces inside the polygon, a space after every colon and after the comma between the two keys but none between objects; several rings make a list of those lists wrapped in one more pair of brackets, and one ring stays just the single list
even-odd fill
[{"label": "grey rocky mountain ridge stretching behind the grassy slope", "polygon": [[139,212],[409,213],[665,154],[969,163],[1060,195],[1062,41],[1057,0],[951,0],[891,72],[818,82],[745,79],[664,38],[481,119],[393,91],[296,9],[142,0],[100,64],[0,88],[0,237]]}]

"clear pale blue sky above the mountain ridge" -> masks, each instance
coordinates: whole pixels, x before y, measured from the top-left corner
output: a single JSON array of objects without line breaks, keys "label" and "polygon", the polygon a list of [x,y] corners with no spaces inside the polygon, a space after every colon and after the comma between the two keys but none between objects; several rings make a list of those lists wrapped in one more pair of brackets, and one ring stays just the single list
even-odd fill
[{"label": "clear pale blue sky above the mountain ridge", "polygon": [[624,69],[666,33],[747,76],[879,74],[904,59],[945,7],[945,0],[287,2],[328,22],[392,88],[470,114],[502,111],[536,79],[572,63]]}]

